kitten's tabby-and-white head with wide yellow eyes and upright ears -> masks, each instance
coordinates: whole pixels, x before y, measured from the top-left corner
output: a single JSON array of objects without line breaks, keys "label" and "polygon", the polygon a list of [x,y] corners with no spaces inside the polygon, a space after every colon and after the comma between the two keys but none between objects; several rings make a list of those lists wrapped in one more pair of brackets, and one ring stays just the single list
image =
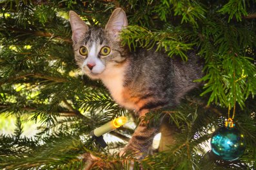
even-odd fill
[{"label": "kitten's tabby-and-white head with wide yellow eyes and upright ears", "polygon": [[128,21],[121,8],[113,11],[104,29],[88,28],[73,11],[69,15],[75,60],[90,78],[101,78],[104,72],[119,67],[126,60],[119,33]]}]

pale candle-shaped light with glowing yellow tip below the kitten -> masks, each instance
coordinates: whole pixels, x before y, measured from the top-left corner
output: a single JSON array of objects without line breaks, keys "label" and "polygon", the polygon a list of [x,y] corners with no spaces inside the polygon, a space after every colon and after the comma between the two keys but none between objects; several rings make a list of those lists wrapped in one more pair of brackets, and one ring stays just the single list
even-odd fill
[{"label": "pale candle-shaped light with glowing yellow tip below the kitten", "polygon": [[99,128],[95,128],[94,135],[96,137],[100,137],[104,133],[107,133],[107,132],[110,132],[110,131],[112,131],[116,128],[119,128],[120,126],[125,124],[126,121],[127,121],[127,118],[124,117],[124,116],[117,117],[117,118],[113,119],[113,121],[110,121],[110,122],[104,124],[103,126],[100,126]]}]

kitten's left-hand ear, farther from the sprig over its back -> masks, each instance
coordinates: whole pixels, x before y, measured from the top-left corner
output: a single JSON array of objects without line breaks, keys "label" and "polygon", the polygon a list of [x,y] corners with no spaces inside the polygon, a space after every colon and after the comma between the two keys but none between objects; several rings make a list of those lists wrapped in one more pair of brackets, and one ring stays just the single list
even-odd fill
[{"label": "kitten's left-hand ear, farther from the sprig over its back", "polygon": [[82,37],[86,31],[88,31],[88,26],[74,11],[70,11],[69,16],[72,28],[72,40],[74,43],[77,43],[77,40],[79,40],[79,38]]}]

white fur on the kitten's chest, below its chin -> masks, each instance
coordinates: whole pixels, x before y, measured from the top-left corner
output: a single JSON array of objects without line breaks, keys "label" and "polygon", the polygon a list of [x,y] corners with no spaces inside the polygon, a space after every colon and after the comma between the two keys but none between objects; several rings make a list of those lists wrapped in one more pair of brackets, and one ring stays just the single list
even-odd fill
[{"label": "white fur on the kitten's chest, below its chin", "polygon": [[124,72],[126,69],[127,63],[119,67],[113,65],[108,65],[101,76],[101,80],[104,85],[110,90],[112,98],[121,106],[125,108],[135,110],[136,106],[132,103],[126,101],[123,97],[124,90]]}]

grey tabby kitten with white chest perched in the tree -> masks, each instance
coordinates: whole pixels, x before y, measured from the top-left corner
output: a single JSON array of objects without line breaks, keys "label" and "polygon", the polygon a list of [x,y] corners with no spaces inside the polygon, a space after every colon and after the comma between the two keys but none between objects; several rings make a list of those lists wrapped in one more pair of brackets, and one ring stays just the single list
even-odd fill
[{"label": "grey tabby kitten with white chest perched in the tree", "polygon": [[[103,81],[112,98],[138,112],[139,117],[177,105],[186,92],[197,87],[193,80],[202,76],[202,65],[195,53],[190,53],[185,63],[155,49],[130,52],[121,46],[119,33],[128,26],[121,8],[113,11],[104,29],[88,28],[73,11],[70,23],[77,65],[88,77]],[[124,151],[146,153],[158,131],[159,127],[141,122]]]}]

